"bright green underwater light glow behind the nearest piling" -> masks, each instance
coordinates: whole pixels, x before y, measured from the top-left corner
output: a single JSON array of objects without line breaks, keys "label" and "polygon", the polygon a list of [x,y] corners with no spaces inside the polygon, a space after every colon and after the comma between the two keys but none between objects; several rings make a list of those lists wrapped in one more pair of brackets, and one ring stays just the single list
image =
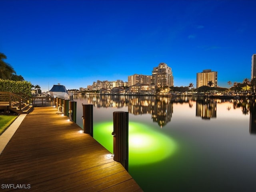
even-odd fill
[{"label": "bright green underwater light glow behind the nearest piling", "polygon": [[[94,139],[113,153],[113,122],[94,125]],[[176,149],[172,138],[147,125],[129,122],[129,165],[149,164],[161,161]]]}]

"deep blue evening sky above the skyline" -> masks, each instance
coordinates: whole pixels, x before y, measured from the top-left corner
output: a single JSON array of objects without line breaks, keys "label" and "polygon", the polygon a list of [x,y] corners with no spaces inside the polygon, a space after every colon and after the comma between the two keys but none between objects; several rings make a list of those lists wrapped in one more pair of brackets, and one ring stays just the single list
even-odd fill
[{"label": "deep blue evening sky above the skyline", "polygon": [[165,62],[174,86],[218,72],[218,86],[250,79],[254,0],[0,0],[0,52],[48,91],[151,75]]}]

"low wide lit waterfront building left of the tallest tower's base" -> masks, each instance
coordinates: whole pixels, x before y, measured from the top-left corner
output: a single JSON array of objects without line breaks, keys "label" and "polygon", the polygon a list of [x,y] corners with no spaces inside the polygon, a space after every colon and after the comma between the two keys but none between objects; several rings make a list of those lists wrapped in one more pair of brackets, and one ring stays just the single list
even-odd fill
[{"label": "low wide lit waterfront building left of the tallest tower's base", "polygon": [[153,95],[156,92],[156,87],[149,84],[136,84],[127,89],[126,94],[129,95]]}]

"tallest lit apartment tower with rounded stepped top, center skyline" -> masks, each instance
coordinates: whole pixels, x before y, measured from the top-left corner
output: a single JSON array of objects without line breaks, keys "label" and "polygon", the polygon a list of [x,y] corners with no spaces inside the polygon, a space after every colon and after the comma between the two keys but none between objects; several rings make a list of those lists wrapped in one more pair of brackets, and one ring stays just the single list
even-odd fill
[{"label": "tallest lit apartment tower with rounded stepped top, center skyline", "polygon": [[160,63],[158,67],[154,67],[152,71],[152,84],[157,87],[173,86],[172,68],[166,63]]}]

